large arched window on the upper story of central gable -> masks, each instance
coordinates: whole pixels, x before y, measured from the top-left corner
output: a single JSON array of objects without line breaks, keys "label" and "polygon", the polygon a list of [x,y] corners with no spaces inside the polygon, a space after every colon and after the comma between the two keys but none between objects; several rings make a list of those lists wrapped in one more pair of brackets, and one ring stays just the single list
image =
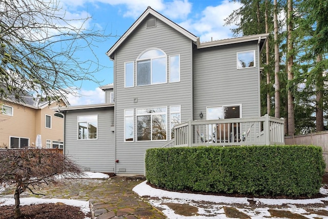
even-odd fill
[{"label": "large arched window on the upper story of central gable", "polygon": [[137,86],[167,83],[167,55],[149,49],[137,58]]}]

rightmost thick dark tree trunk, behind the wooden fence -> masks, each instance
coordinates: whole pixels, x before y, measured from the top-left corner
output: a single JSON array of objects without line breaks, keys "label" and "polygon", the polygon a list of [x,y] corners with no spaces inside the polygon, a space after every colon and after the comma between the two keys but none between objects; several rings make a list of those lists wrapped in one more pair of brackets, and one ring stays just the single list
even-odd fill
[{"label": "rightmost thick dark tree trunk, behind the wooden fence", "polygon": [[[322,61],[322,55],[317,55],[317,63]],[[316,72],[316,131],[323,131],[323,76],[322,70]]]}]

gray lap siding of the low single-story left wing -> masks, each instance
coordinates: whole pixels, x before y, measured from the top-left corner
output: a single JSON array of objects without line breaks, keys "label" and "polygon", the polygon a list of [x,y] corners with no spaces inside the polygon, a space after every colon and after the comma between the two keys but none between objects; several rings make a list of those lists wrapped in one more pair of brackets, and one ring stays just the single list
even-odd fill
[{"label": "gray lap siding of the low single-story left wing", "polygon": [[[98,115],[98,139],[77,140],[77,116]],[[67,111],[65,115],[65,154],[83,169],[114,172],[115,143],[113,107]]]}]

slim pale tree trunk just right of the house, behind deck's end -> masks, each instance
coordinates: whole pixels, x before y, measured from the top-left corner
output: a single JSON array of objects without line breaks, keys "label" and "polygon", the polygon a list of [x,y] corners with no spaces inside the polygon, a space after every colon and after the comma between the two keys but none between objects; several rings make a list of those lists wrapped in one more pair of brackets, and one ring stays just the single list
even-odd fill
[{"label": "slim pale tree trunk just right of the house, behind deck's end", "polygon": [[280,82],[279,82],[279,42],[278,42],[278,6],[277,0],[273,1],[273,25],[274,25],[274,44],[275,44],[275,117],[280,118]]}]

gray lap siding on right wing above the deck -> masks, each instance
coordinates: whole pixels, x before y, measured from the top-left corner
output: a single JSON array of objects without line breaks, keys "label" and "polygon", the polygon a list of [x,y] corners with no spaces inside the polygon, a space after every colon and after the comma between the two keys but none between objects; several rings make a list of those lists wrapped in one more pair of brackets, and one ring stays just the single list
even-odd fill
[{"label": "gray lap siding on right wing above the deck", "polygon": [[[255,50],[256,67],[237,69],[237,52]],[[242,117],[259,115],[257,43],[194,50],[194,120],[206,120],[206,107],[242,105]],[[203,118],[199,113],[203,112]]]}]

